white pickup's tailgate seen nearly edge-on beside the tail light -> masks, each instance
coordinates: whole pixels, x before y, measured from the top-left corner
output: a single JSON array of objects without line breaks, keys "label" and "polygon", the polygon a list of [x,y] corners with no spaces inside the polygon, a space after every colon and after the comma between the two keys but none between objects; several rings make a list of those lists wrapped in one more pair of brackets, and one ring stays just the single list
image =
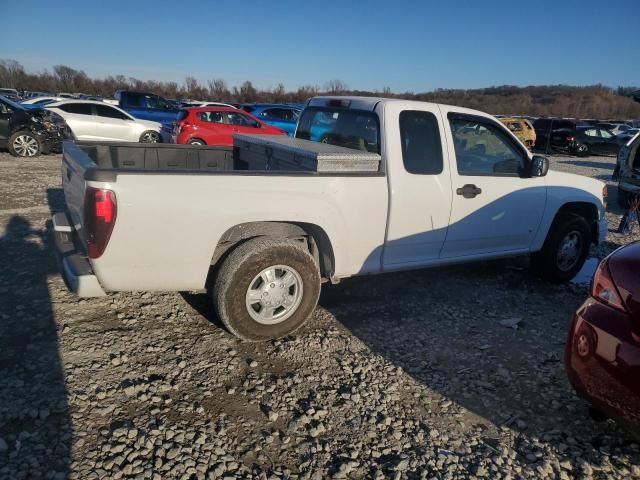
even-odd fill
[{"label": "white pickup's tailgate seen nearly edge-on beside the tail light", "polygon": [[84,246],[84,235],[82,232],[82,218],[84,213],[84,172],[95,167],[96,164],[80,149],[70,141],[64,142],[62,156],[62,187],[66,203],[66,213],[72,233],[78,234],[82,246]]}]

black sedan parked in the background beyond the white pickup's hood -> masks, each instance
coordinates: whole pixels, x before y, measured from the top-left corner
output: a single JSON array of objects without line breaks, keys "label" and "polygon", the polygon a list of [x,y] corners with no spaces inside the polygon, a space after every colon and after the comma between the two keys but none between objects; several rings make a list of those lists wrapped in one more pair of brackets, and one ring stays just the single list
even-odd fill
[{"label": "black sedan parked in the background beyond the white pickup's hood", "polygon": [[563,128],[551,132],[551,147],[575,155],[617,155],[620,143],[609,130],[595,126]]}]

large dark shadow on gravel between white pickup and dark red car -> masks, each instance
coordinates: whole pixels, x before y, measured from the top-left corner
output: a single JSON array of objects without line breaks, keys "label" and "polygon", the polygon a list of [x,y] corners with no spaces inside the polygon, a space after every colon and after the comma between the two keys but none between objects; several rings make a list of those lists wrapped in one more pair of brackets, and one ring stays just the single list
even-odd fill
[{"label": "large dark shadow on gravel between white pickup and dark red car", "polygon": [[[436,410],[439,428],[454,432],[464,420],[489,438],[508,428],[519,441],[542,440],[561,457],[600,464],[619,448],[640,460],[620,427],[588,417],[566,379],[569,320],[587,288],[549,285],[527,264],[510,259],[361,277],[324,287],[319,304],[427,388],[425,397],[407,401],[428,400],[423,408]],[[500,324],[513,318],[521,319],[517,330]]]}]

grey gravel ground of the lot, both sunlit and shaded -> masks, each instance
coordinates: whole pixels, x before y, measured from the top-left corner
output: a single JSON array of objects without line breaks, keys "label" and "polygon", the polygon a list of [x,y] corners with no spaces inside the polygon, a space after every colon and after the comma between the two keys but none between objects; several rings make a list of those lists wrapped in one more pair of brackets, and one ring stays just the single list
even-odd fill
[{"label": "grey gravel ground of the lot, both sunlit and shaded", "polygon": [[0,153],[0,478],[640,478],[638,443],[564,373],[586,286],[526,259],[355,278],[295,336],[243,344],[204,295],[67,293],[60,159]]}]

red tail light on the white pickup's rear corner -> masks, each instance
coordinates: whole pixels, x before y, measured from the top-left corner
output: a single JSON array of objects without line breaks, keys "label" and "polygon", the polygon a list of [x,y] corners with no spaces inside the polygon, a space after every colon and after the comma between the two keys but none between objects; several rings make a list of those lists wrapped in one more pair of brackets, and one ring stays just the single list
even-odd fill
[{"label": "red tail light on the white pickup's rear corner", "polygon": [[84,194],[84,230],[89,258],[99,258],[109,243],[116,223],[116,194],[87,187]]}]

